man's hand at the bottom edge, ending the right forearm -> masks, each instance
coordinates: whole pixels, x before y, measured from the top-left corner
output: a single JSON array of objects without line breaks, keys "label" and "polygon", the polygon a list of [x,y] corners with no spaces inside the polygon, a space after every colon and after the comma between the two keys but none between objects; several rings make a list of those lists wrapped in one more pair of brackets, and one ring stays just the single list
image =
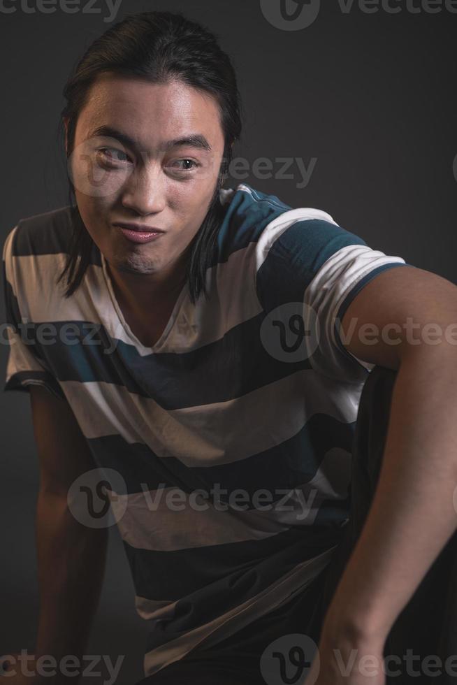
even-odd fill
[{"label": "man's hand at the bottom edge, ending the right forearm", "polygon": [[306,683],[310,685],[386,685],[384,645],[378,642],[329,640],[322,635],[319,659],[314,658]]}]

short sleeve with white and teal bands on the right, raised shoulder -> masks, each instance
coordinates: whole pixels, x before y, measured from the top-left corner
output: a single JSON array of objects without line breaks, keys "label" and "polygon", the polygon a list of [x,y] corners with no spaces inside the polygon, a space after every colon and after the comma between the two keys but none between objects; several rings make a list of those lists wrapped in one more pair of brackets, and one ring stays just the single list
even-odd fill
[{"label": "short sleeve with white and teal bands on the right, raised shoulder", "polygon": [[257,291],[266,310],[303,304],[310,366],[334,380],[365,382],[375,364],[358,359],[342,344],[344,312],[379,273],[412,265],[372,249],[326,212],[303,208],[286,212],[267,227],[257,248],[257,266]]}]

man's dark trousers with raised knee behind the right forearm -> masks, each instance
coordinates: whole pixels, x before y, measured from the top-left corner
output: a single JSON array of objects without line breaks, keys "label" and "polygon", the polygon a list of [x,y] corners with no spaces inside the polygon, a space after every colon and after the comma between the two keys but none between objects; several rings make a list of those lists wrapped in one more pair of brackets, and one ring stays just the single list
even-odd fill
[{"label": "man's dark trousers with raised knee behind the right forearm", "polygon": [[[265,685],[268,679],[263,677],[265,672],[262,675],[260,664],[271,642],[299,633],[319,644],[326,609],[375,493],[395,380],[395,371],[375,366],[363,386],[352,452],[349,523],[326,569],[305,591],[279,609],[261,616],[215,647],[192,650],[137,685]],[[399,549],[398,554],[401,553]],[[392,626],[384,657],[389,685],[457,682],[457,532]],[[430,661],[432,657],[436,658]],[[284,679],[284,683],[301,685],[304,678],[305,672],[302,678],[291,677]],[[277,678],[270,682],[281,685]]]}]

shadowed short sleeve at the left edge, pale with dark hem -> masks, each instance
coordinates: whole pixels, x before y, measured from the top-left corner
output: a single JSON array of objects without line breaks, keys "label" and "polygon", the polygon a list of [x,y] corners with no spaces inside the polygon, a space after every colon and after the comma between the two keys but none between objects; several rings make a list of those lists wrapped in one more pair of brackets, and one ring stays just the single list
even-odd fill
[{"label": "shadowed short sleeve at the left edge, pale with dark hem", "polygon": [[[20,302],[19,284],[27,277],[21,273],[25,268],[24,259],[15,252],[15,237],[19,226],[15,226],[6,236],[2,254],[3,298],[5,305],[6,325],[3,326],[3,343],[8,344],[8,362],[3,391],[29,391],[30,385],[42,385],[52,394],[64,398],[64,393],[48,364],[38,355],[33,338],[27,335]],[[29,274],[32,277],[33,270]],[[5,330],[6,329],[6,330]]]}]

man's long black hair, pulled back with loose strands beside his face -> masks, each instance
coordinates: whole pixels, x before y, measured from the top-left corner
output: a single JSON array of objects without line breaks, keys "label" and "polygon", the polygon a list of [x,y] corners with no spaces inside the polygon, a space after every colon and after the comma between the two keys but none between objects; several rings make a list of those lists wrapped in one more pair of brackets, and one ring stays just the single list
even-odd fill
[{"label": "man's long black hair, pulled back with loose strands beside his face", "polygon": [[[224,134],[224,154],[217,187],[210,208],[189,245],[187,282],[191,301],[205,292],[205,273],[212,260],[224,208],[219,189],[224,185],[232,158],[232,145],[241,134],[241,101],[231,59],[208,29],[181,13],[143,12],[129,14],[89,45],[64,86],[66,106],[61,111],[59,130],[66,131],[66,157],[73,151],[76,122],[85,106],[90,87],[101,73],[131,75],[151,83],[181,80],[211,94],[219,104]],[[68,174],[68,165],[67,165]],[[68,175],[68,197],[72,235],[66,264],[57,282],[66,274],[65,296],[78,289],[85,274],[94,241],[80,216],[75,189]]]}]

